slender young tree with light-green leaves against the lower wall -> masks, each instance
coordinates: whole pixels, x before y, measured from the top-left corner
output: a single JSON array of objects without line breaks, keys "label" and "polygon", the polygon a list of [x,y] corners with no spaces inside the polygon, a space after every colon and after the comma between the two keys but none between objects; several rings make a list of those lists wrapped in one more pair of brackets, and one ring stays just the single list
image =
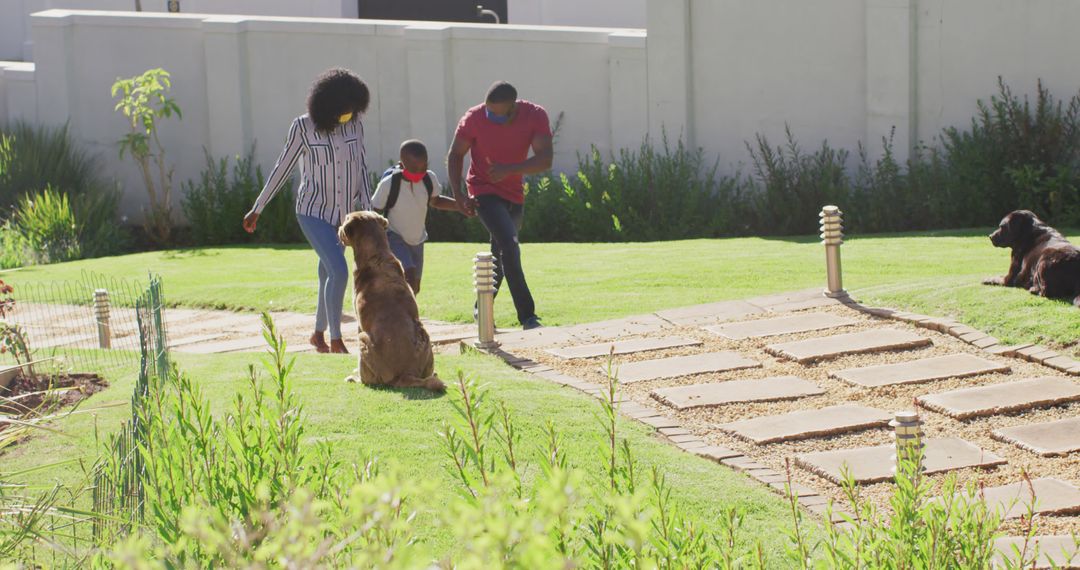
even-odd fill
[{"label": "slender young tree with light-green leaves against the lower wall", "polygon": [[120,158],[131,154],[138,165],[150,202],[146,229],[160,244],[170,243],[173,230],[173,166],[159,137],[160,123],[174,116],[183,118],[180,107],[168,96],[173,86],[170,77],[164,69],[148,69],[117,79],[111,91],[112,97],[119,98],[113,110],[123,113],[131,128],[120,139]]}]

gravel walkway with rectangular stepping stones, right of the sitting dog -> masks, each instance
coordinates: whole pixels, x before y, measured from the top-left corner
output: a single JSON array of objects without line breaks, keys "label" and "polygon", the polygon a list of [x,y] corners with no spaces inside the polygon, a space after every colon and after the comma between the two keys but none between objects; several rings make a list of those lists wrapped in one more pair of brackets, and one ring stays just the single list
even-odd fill
[{"label": "gravel walkway with rectangular stepping stones, right of the sitting dog", "polygon": [[[987,501],[1012,505],[1010,533],[1027,506],[1040,534],[1080,532],[1080,362],[1070,355],[818,289],[498,339],[511,365],[593,395],[613,353],[625,415],[781,492],[791,480],[822,514],[829,501],[845,508],[843,471],[888,507],[888,422],[914,409],[935,480],[985,485]],[[1025,474],[1038,483],[1034,501]]]}]

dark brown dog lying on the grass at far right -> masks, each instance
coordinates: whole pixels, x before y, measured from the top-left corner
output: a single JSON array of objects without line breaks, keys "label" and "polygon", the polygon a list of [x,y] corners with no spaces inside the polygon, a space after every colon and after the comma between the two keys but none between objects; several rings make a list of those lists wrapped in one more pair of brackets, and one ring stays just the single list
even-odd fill
[{"label": "dark brown dog lying on the grass at far right", "polygon": [[997,247],[1012,248],[1012,263],[1004,277],[986,285],[1022,287],[1032,295],[1064,298],[1080,307],[1080,247],[1034,213],[1017,209],[1005,216],[990,234]]}]

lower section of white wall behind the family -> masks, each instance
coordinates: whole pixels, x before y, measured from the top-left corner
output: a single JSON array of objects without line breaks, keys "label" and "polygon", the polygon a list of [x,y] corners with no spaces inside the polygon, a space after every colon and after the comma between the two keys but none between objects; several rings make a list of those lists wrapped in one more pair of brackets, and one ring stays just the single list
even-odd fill
[{"label": "lower section of white wall behind the family", "polygon": [[[109,90],[118,77],[153,67],[172,73],[184,112],[161,128],[177,187],[198,178],[204,148],[225,157],[255,144],[267,173],[289,121],[305,112],[312,79],[333,66],[353,69],[373,90],[364,117],[373,171],[418,137],[445,179],[442,158],[458,119],[498,79],[546,107],[553,121],[565,113],[557,168],[572,169],[577,151],[593,144],[633,146],[646,130],[642,30],[48,11],[35,15],[33,33],[35,109],[14,100],[23,92],[5,90],[8,118],[70,121],[124,182],[131,216],[145,199],[135,166],[118,158],[126,123]],[[0,72],[2,84],[11,81]]]}]

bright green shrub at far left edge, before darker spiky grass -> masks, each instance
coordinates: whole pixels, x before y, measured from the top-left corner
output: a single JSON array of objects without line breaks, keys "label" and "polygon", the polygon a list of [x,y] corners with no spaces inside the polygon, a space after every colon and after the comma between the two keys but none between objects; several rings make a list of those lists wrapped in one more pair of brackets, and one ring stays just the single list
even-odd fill
[{"label": "bright green shrub at far left edge, before darker spiky grass", "polygon": [[52,188],[19,199],[2,232],[5,267],[59,263],[81,254],[68,196]]}]

